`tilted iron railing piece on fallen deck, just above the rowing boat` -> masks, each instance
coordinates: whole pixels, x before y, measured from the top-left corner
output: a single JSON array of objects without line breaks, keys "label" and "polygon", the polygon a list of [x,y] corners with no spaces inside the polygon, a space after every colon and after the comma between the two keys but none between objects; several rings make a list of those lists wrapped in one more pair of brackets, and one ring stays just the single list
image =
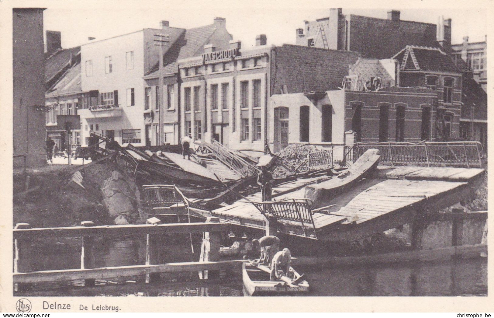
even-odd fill
[{"label": "tilted iron railing piece on fallen deck, just above the rowing boat", "polygon": [[272,215],[281,220],[300,222],[302,228],[311,225],[314,229],[312,218],[312,201],[309,199],[287,199],[282,201],[252,202],[263,215]]}]

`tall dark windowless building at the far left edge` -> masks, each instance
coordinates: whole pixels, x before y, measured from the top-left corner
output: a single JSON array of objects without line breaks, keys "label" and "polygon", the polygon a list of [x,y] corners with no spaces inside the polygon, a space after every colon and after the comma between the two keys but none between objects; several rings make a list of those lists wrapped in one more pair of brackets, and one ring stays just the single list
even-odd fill
[{"label": "tall dark windowless building at the far left edge", "polygon": [[12,9],[14,168],[46,164],[43,10]]}]

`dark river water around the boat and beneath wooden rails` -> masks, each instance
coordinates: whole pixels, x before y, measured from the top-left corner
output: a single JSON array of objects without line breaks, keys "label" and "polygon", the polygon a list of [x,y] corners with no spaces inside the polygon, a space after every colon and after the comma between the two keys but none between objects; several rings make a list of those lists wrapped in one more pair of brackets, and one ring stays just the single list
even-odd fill
[{"label": "dark river water around the boat and beneath wooden rails", "polygon": [[[166,237],[166,262],[197,261],[201,235]],[[143,237],[98,239],[96,267],[144,264]],[[80,238],[34,241],[23,250],[21,271],[77,269],[81,264]],[[311,285],[308,296],[458,296],[487,295],[487,258],[441,262],[402,263],[366,267],[297,267]],[[219,278],[199,280],[197,273],[164,273],[162,281],[146,284],[144,277],[39,283],[25,296],[243,296],[241,273],[221,272]]]}]

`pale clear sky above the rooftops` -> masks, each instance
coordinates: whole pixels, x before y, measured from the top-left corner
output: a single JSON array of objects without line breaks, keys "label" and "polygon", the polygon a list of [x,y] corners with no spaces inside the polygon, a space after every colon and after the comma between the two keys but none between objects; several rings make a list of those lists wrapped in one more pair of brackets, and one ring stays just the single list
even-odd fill
[{"label": "pale clear sky above the rooftops", "polygon": [[[393,1],[388,7],[383,7],[383,2],[367,1],[372,9],[362,9],[348,8],[359,3],[354,1],[51,0],[43,2],[47,8],[44,29],[61,31],[62,47],[67,48],[87,43],[87,37],[102,40],[144,28],[159,28],[161,20],[168,20],[170,27],[194,28],[211,24],[213,18],[219,16],[226,18],[228,32],[234,39],[241,40],[244,47],[254,45],[257,34],[266,34],[268,44],[282,45],[295,43],[295,30],[303,27],[304,20],[326,17],[329,8],[343,7],[343,14],[384,19],[390,9],[400,10],[401,20],[437,24],[439,16],[452,18],[453,44],[461,43],[463,36],[469,36],[470,42],[484,41],[488,33],[489,10],[485,6],[492,3],[489,1],[468,1],[468,6],[455,9],[432,1],[427,2],[429,7],[426,8],[422,1]],[[461,6],[456,5],[460,2],[454,3],[456,7]],[[480,4],[476,7],[476,3]]]}]

